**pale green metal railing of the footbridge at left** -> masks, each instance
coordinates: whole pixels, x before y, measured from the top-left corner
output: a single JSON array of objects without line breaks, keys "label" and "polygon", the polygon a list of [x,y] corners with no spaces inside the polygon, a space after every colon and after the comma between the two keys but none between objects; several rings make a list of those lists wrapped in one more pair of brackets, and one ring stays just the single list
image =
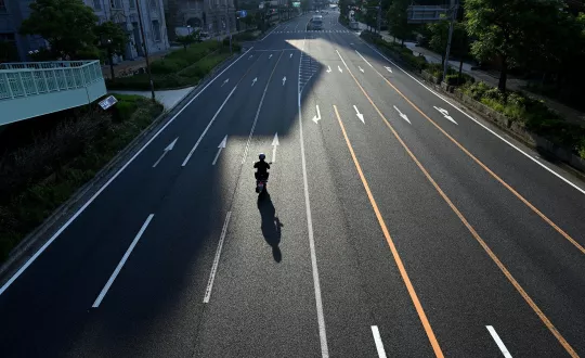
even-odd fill
[{"label": "pale green metal railing of the footbridge at left", "polygon": [[100,61],[0,64],[0,101],[84,88],[103,80]]}]

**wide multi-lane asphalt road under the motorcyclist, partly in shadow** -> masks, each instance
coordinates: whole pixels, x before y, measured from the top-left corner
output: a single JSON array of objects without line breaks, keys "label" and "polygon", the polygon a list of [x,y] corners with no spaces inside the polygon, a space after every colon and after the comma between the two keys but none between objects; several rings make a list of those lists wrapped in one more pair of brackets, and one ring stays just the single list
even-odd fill
[{"label": "wide multi-lane asphalt road under the motorcyclist, partly in shadow", "polygon": [[584,186],[337,16],[253,43],[0,289],[1,357],[585,351]]}]

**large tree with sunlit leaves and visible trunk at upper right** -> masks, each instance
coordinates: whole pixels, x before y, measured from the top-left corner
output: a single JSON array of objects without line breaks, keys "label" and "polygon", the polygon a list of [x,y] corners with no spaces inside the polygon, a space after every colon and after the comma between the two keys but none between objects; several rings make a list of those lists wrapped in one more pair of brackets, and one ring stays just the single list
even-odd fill
[{"label": "large tree with sunlit leaves and visible trunk at upper right", "polygon": [[552,18],[560,9],[560,0],[466,0],[467,30],[477,38],[471,52],[479,60],[499,60],[500,91],[506,91],[510,67],[551,55],[544,44],[551,43],[548,39],[558,27]]}]

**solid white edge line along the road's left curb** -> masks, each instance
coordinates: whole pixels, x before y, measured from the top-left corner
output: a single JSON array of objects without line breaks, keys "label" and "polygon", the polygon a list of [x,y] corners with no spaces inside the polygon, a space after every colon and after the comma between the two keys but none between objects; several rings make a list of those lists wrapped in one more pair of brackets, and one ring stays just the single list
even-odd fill
[{"label": "solid white edge line along the road's left curb", "polygon": [[10,285],[21,276],[23,274],[23,272],[47,250],[47,247],[49,247],[49,245],[51,245],[53,243],[53,241],[56,240],[56,238],[58,238],[58,235],[61,235],[61,233],[63,231],[65,231],[65,229],[67,229],[67,227],[69,225],[72,225],[73,221],[75,221],[75,219],[77,219],[77,217],[79,215],[81,215],[81,213],[83,213],[83,210],[86,210],[86,208],[91,204],[93,203],[93,201],[95,200],[95,197],[98,197],[129,165],[130,163],[134,162],[134,159],[146,149],[146,146],[148,146],[165,129],[167,129],[167,127],[174,122],[174,119],[181,114],[183,113],[183,111],[188,107],[191,105],[191,103],[193,103],[193,101],[195,101],[199,94],[202,94],[212,82],[216,81],[216,79],[218,79],[221,75],[223,75],[224,72],[226,72],[227,69],[230,69],[230,67],[232,67],[236,62],[238,62],[239,60],[242,60],[242,57],[244,57],[246,54],[248,54],[248,52],[250,52],[251,50],[253,49],[253,47],[249,48],[248,51],[244,52],[239,57],[237,57],[236,61],[232,62],[227,67],[223,68],[222,72],[220,72],[216,77],[213,77],[197,94],[195,94],[194,98],[191,99],[191,101],[187,102],[187,104],[185,104],[179,112],[177,112],[177,114],[169,119],[169,122],[167,122],[167,124],[165,126],[162,126],[162,128],[160,128],[154,136],[153,138],[151,138],[146,144],[144,144],[140,151],[136,152],[136,154],[134,154],[118,171],[116,171],[116,174],[109,178],[109,180],[102,186],[102,188],[100,188],[100,190],[98,190],[95,192],[95,194],[93,194],[93,196],[91,196],[87,202],[86,204],[83,204],[83,206],[81,206],[75,214],[74,216],[72,216],[58,230],[57,232],[55,232],[51,239],[49,239],[49,241],[47,241],[44,243],[44,245],[41,246],[41,248],[39,248],[37,251],[37,253],[35,253],[35,255],[32,255],[32,257],[30,257],[25,265],[23,265],[23,267],[21,267],[18,269],[18,271],[16,271],[16,273],[14,273],[12,276],[12,278],[10,278],[10,280],[6,281],[6,283],[4,283],[4,285],[2,287],[0,287],[0,295],[2,295],[6,290],[8,287],[10,287]]}]

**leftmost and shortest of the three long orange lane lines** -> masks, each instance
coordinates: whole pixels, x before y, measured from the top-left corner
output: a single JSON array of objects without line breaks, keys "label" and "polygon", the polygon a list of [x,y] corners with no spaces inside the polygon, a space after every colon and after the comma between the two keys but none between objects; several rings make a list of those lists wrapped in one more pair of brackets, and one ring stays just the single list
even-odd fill
[{"label": "leftmost and shortest of the three long orange lane lines", "polygon": [[358,174],[360,175],[360,178],[362,179],[362,183],[364,184],[365,191],[367,193],[367,197],[369,199],[369,203],[372,204],[372,207],[374,208],[374,213],[376,213],[376,218],[378,219],[378,223],[380,225],[380,228],[384,232],[386,242],[388,242],[388,246],[390,246],[390,251],[392,252],[394,261],[396,263],[400,274],[402,276],[402,280],[404,281],[404,284],[406,285],[406,290],[408,290],[411,299],[413,301],[413,304],[415,305],[416,311],[418,314],[418,318],[422,322],[422,327],[425,328],[425,331],[427,332],[427,336],[429,337],[429,341],[432,345],[434,355],[437,357],[444,357],[443,351],[441,350],[441,347],[439,346],[439,342],[437,341],[437,337],[434,336],[434,332],[432,332],[432,328],[429,323],[429,319],[427,318],[427,315],[425,314],[425,310],[422,309],[422,305],[420,305],[420,301],[418,299],[418,296],[416,295],[416,291],[413,286],[413,283],[411,282],[411,279],[408,278],[408,273],[406,272],[406,269],[404,268],[404,264],[402,264],[402,259],[400,258],[400,254],[396,251],[394,241],[390,236],[390,232],[388,231],[388,228],[386,227],[386,222],[384,221],[380,210],[378,209],[378,204],[376,204],[376,200],[374,200],[374,195],[372,195],[372,191],[369,190],[367,180],[365,179],[364,172],[362,171],[362,167],[360,166],[360,163],[358,162],[358,157],[355,156],[355,153],[353,152],[353,146],[351,146],[351,142],[348,138],[348,133],[346,132],[346,127],[343,126],[343,123],[341,122],[341,117],[339,116],[339,112],[337,111],[337,106],[335,104],[334,104],[334,110],[335,110],[335,115],[337,116],[337,120],[339,122],[339,126],[341,127],[341,131],[343,132],[343,137],[346,138],[346,143],[348,144],[349,151],[351,153],[351,157],[353,158],[353,163],[355,164],[355,168],[358,169]]}]

